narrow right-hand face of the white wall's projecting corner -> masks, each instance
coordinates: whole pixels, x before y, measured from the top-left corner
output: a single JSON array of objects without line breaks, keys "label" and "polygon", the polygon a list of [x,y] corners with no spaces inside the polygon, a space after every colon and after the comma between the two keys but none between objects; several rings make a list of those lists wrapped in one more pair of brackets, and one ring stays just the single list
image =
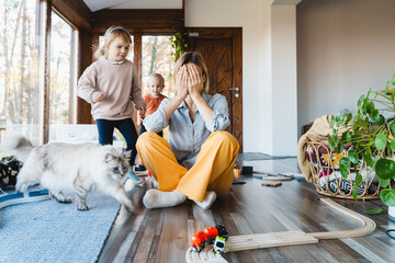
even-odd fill
[{"label": "narrow right-hand face of the white wall's projecting corner", "polygon": [[272,130],[274,156],[296,156],[296,8],[271,8]]}]

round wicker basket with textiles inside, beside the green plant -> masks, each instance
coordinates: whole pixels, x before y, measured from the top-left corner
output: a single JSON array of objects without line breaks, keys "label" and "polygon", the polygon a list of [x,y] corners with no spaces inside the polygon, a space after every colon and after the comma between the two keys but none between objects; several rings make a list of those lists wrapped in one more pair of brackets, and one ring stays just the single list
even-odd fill
[{"label": "round wicker basket with textiles inside, beside the green plant", "polygon": [[[340,174],[338,161],[341,157],[347,157],[351,145],[345,146],[340,153],[331,152],[327,140],[307,140],[306,158],[309,163],[313,183],[319,194],[353,199],[352,192],[354,185],[350,182],[356,176],[354,171],[349,172],[348,179]],[[357,164],[358,172],[362,175],[361,187],[357,187],[358,199],[380,198],[380,184],[374,170],[369,168],[363,160]]]}]

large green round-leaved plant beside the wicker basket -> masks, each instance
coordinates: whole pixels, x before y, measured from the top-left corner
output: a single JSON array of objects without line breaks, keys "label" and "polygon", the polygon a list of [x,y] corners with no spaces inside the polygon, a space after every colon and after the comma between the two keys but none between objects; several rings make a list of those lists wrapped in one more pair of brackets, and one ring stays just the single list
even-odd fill
[{"label": "large green round-leaved plant beside the wicker basket", "polygon": [[[370,89],[366,95],[358,100],[358,110],[354,116],[351,113],[340,112],[331,116],[328,144],[332,152],[341,152],[343,146],[352,145],[347,157],[339,161],[341,176],[347,179],[350,171],[356,172],[353,197],[357,199],[357,186],[361,186],[362,175],[358,170],[361,160],[373,170],[382,187],[381,201],[390,207],[388,213],[395,219],[395,75],[382,91]],[[339,134],[341,128],[347,132]]]}]

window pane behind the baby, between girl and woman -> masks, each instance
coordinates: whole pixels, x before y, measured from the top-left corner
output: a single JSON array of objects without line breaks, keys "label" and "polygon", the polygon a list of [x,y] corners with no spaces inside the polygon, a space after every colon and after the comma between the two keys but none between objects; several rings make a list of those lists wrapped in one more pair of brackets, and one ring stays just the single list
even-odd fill
[{"label": "window pane behind the baby, between girl and woman", "polygon": [[171,43],[169,36],[143,36],[143,94],[146,94],[148,77],[151,73],[160,73],[165,78],[163,94],[172,98],[176,90],[172,81],[174,60],[171,56]]}]

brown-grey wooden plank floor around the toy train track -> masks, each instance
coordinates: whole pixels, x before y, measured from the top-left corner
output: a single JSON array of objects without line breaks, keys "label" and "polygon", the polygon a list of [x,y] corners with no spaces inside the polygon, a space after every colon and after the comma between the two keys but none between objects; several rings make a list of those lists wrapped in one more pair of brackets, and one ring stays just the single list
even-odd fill
[{"label": "brown-grey wooden plank floor around the toy train track", "polygon": [[[298,172],[295,158],[244,161],[256,171]],[[218,198],[211,209],[194,203],[147,210],[140,203],[148,186],[133,187],[129,195],[139,203],[136,214],[122,208],[100,255],[99,262],[185,262],[190,238],[206,227],[222,224],[229,236],[302,230],[305,232],[347,230],[356,221],[320,204],[312,184],[296,180],[279,187],[261,186],[261,180],[241,176],[227,196]],[[131,187],[131,184],[127,184]],[[149,185],[149,182],[148,182]],[[334,198],[339,204],[363,214],[382,207],[382,215],[369,216],[376,225],[368,237],[319,240],[303,244],[258,249],[224,254],[228,262],[395,262],[395,240],[385,235],[395,222],[387,219],[387,208],[380,201],[354,202]],[[139,201],[139,202],[138,202]]]}]

